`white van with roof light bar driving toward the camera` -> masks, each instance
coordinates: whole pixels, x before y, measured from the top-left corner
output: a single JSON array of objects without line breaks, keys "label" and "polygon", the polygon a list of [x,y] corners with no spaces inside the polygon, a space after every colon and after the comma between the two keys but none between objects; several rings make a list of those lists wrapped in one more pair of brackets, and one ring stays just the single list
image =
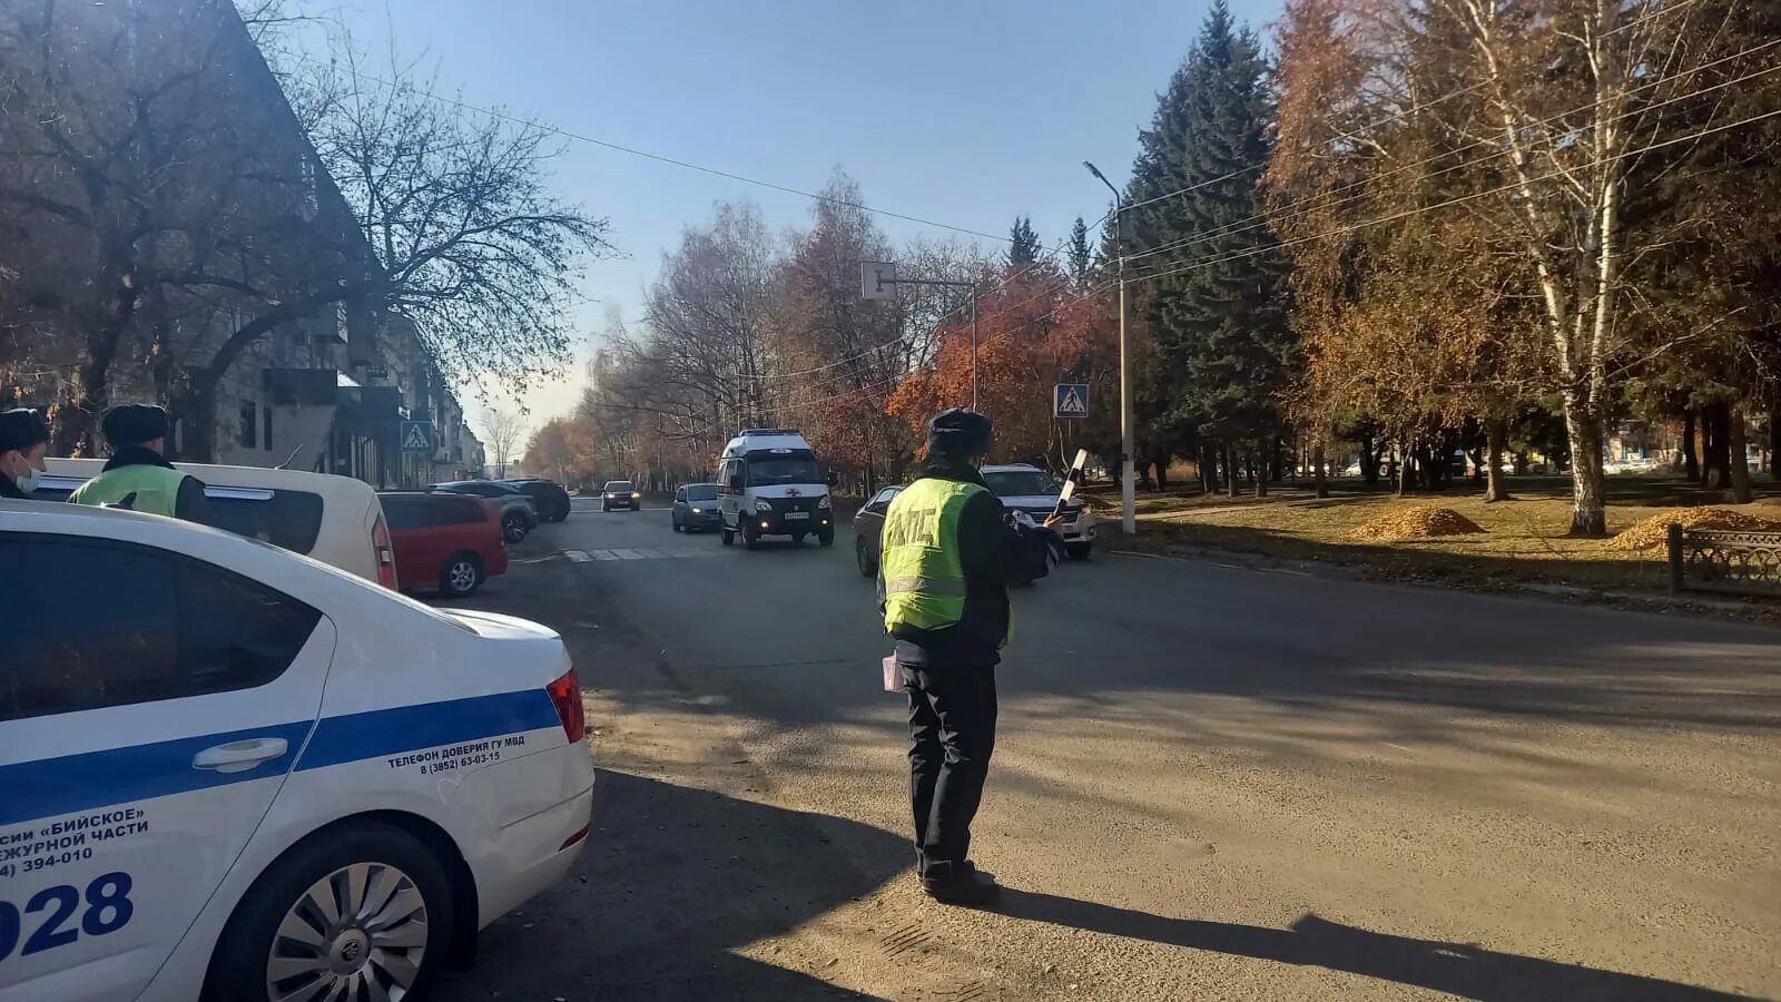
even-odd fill
[{"label": "white van with roof light bar driving toward the camera", "polygon": [[835,510],[810,442],[796,428],[743,428],[730,439],[718,460],[718,517],[723,521],[723,546],[743,537],[753,549],[760,537],[791,537],[803,542],[814,535],[823,546],[835,544]]}]

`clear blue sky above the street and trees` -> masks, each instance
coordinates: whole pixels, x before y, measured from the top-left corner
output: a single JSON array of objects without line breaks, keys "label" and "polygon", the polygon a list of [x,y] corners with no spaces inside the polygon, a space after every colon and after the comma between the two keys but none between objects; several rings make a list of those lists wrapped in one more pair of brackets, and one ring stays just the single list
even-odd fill
[{"label": "clear blue sky above the street and trees", "polygon": [[[1047,246],[1095,219],[1156,93],[1211,0],[346,0],[365,43],[394,30],[447,93],[540,121],[816,191],[839,164],[866,201],[988,234],[1017,214]],[[1266,30],[1277,0],[1232,0]],[[593,335],[636,317],[661,253],[712,203],[753,200],[801,226],[810,201],[575,143],[556,189],[613,225],[622,259],[588,269]],[[915,223],[880,218],[903,241]],[[586,353],[586,346],[582,346]],[[533,423],[566,410],[581,371],[533,390]]]}]

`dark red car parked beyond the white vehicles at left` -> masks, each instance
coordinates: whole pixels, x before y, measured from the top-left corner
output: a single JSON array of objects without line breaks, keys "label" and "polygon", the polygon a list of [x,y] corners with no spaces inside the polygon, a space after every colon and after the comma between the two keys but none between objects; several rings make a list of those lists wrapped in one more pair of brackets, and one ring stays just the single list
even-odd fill
[{"label": "dark red car parked beyond the white vehicles at left", "polygon": [[404,588],[436,583],[442,595],[474,595],[508,572],[508,544],[495,510],[474,494],[379,492]]}]

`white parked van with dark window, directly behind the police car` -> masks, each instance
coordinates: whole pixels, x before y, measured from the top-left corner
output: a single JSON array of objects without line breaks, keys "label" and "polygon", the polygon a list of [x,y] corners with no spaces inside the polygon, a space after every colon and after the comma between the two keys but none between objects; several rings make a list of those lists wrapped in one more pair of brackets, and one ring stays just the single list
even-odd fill
[{"label": "white parked van with dark window, directly behind the police car", "polygon": [[[66,501],[105,460],[46,460],[34,501]],[[256,465],[173,464],[205,483],[210,524],[285,547],[395,588],[395,551],[378,492],[331,472]]]}]

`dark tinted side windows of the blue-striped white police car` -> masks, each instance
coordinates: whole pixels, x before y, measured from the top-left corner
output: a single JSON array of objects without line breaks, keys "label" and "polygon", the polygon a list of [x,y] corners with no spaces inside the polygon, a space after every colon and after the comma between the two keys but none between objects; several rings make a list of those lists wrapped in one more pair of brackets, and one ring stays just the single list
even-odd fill
[{"label": "dark tinted side windows of the blue-striped white police car", "polygon": [[289,667],[321,613],[146,547],[4,538],[34,587],[0,660],[0,720],[249,688]]}]

